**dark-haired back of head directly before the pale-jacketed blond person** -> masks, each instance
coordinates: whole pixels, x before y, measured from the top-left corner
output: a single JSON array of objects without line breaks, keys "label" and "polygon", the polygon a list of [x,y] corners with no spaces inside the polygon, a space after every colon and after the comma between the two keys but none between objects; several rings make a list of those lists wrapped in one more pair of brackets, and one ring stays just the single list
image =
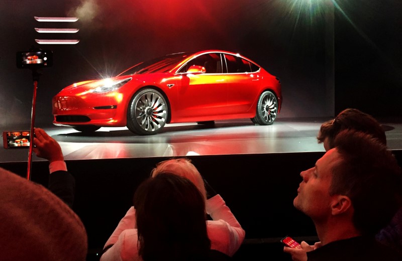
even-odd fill
[{"label": "dark-haired back of head directly before the pale-jacketed blond person", "polygon": [[205,199],[186,178],[159,173],[134,194],[139,254],[147,260],[202,260],[210,250]]}]

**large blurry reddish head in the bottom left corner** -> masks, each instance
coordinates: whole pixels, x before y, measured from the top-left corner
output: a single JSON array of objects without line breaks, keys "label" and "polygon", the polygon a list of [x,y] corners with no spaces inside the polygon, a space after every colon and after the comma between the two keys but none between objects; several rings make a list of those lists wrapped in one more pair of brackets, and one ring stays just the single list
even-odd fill
[{"label": "large blurry reddish head in the bottom left corner", "polygon": [[0,259],[85,260],[78,216],[45,187],[0,168]]}]

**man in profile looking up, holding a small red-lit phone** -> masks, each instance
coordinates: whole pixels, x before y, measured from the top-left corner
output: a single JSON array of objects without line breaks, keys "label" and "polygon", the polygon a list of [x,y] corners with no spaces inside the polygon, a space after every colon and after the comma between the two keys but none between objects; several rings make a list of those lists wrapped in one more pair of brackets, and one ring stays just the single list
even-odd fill
[{"label": "man in profile looking up, holding a small red-lit phone", "polygon": [[293,205],[312,218],[321,242],[284,247],[293,260],[402,260],[375,240],[401,206],[402,189],[400,168],[378,139],[346,129],[336,136],[334,148],[300,176]]}]

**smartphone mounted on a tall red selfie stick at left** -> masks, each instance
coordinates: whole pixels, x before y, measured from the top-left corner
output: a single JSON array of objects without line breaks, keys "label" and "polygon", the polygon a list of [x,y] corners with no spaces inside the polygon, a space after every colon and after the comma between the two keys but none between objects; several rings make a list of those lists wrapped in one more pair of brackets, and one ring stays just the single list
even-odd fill
[{"label": "smartphone mounted on a tall red selfie stick at left", "polygon": [[[35,109],[36,109],[36,91],[38,88],[38,81],[41,75],[38,69],[50,67],[53,65],[53,52],[50,50],[42,50],[32,47],[29,51],[22,51],[16,53],[17,68],[30,69],[32,71],[32,79],[34,81],[34,94],[32,97],[32,111],[31,111],[31,129],[28,153],[28,168],[27,179],[31,180],[32,168],[32,148],[34,146],[34,126],[35,126]],[[4,138],[4,136],[3,136]],[[22,141],[24,143],[24,141]]]}]

